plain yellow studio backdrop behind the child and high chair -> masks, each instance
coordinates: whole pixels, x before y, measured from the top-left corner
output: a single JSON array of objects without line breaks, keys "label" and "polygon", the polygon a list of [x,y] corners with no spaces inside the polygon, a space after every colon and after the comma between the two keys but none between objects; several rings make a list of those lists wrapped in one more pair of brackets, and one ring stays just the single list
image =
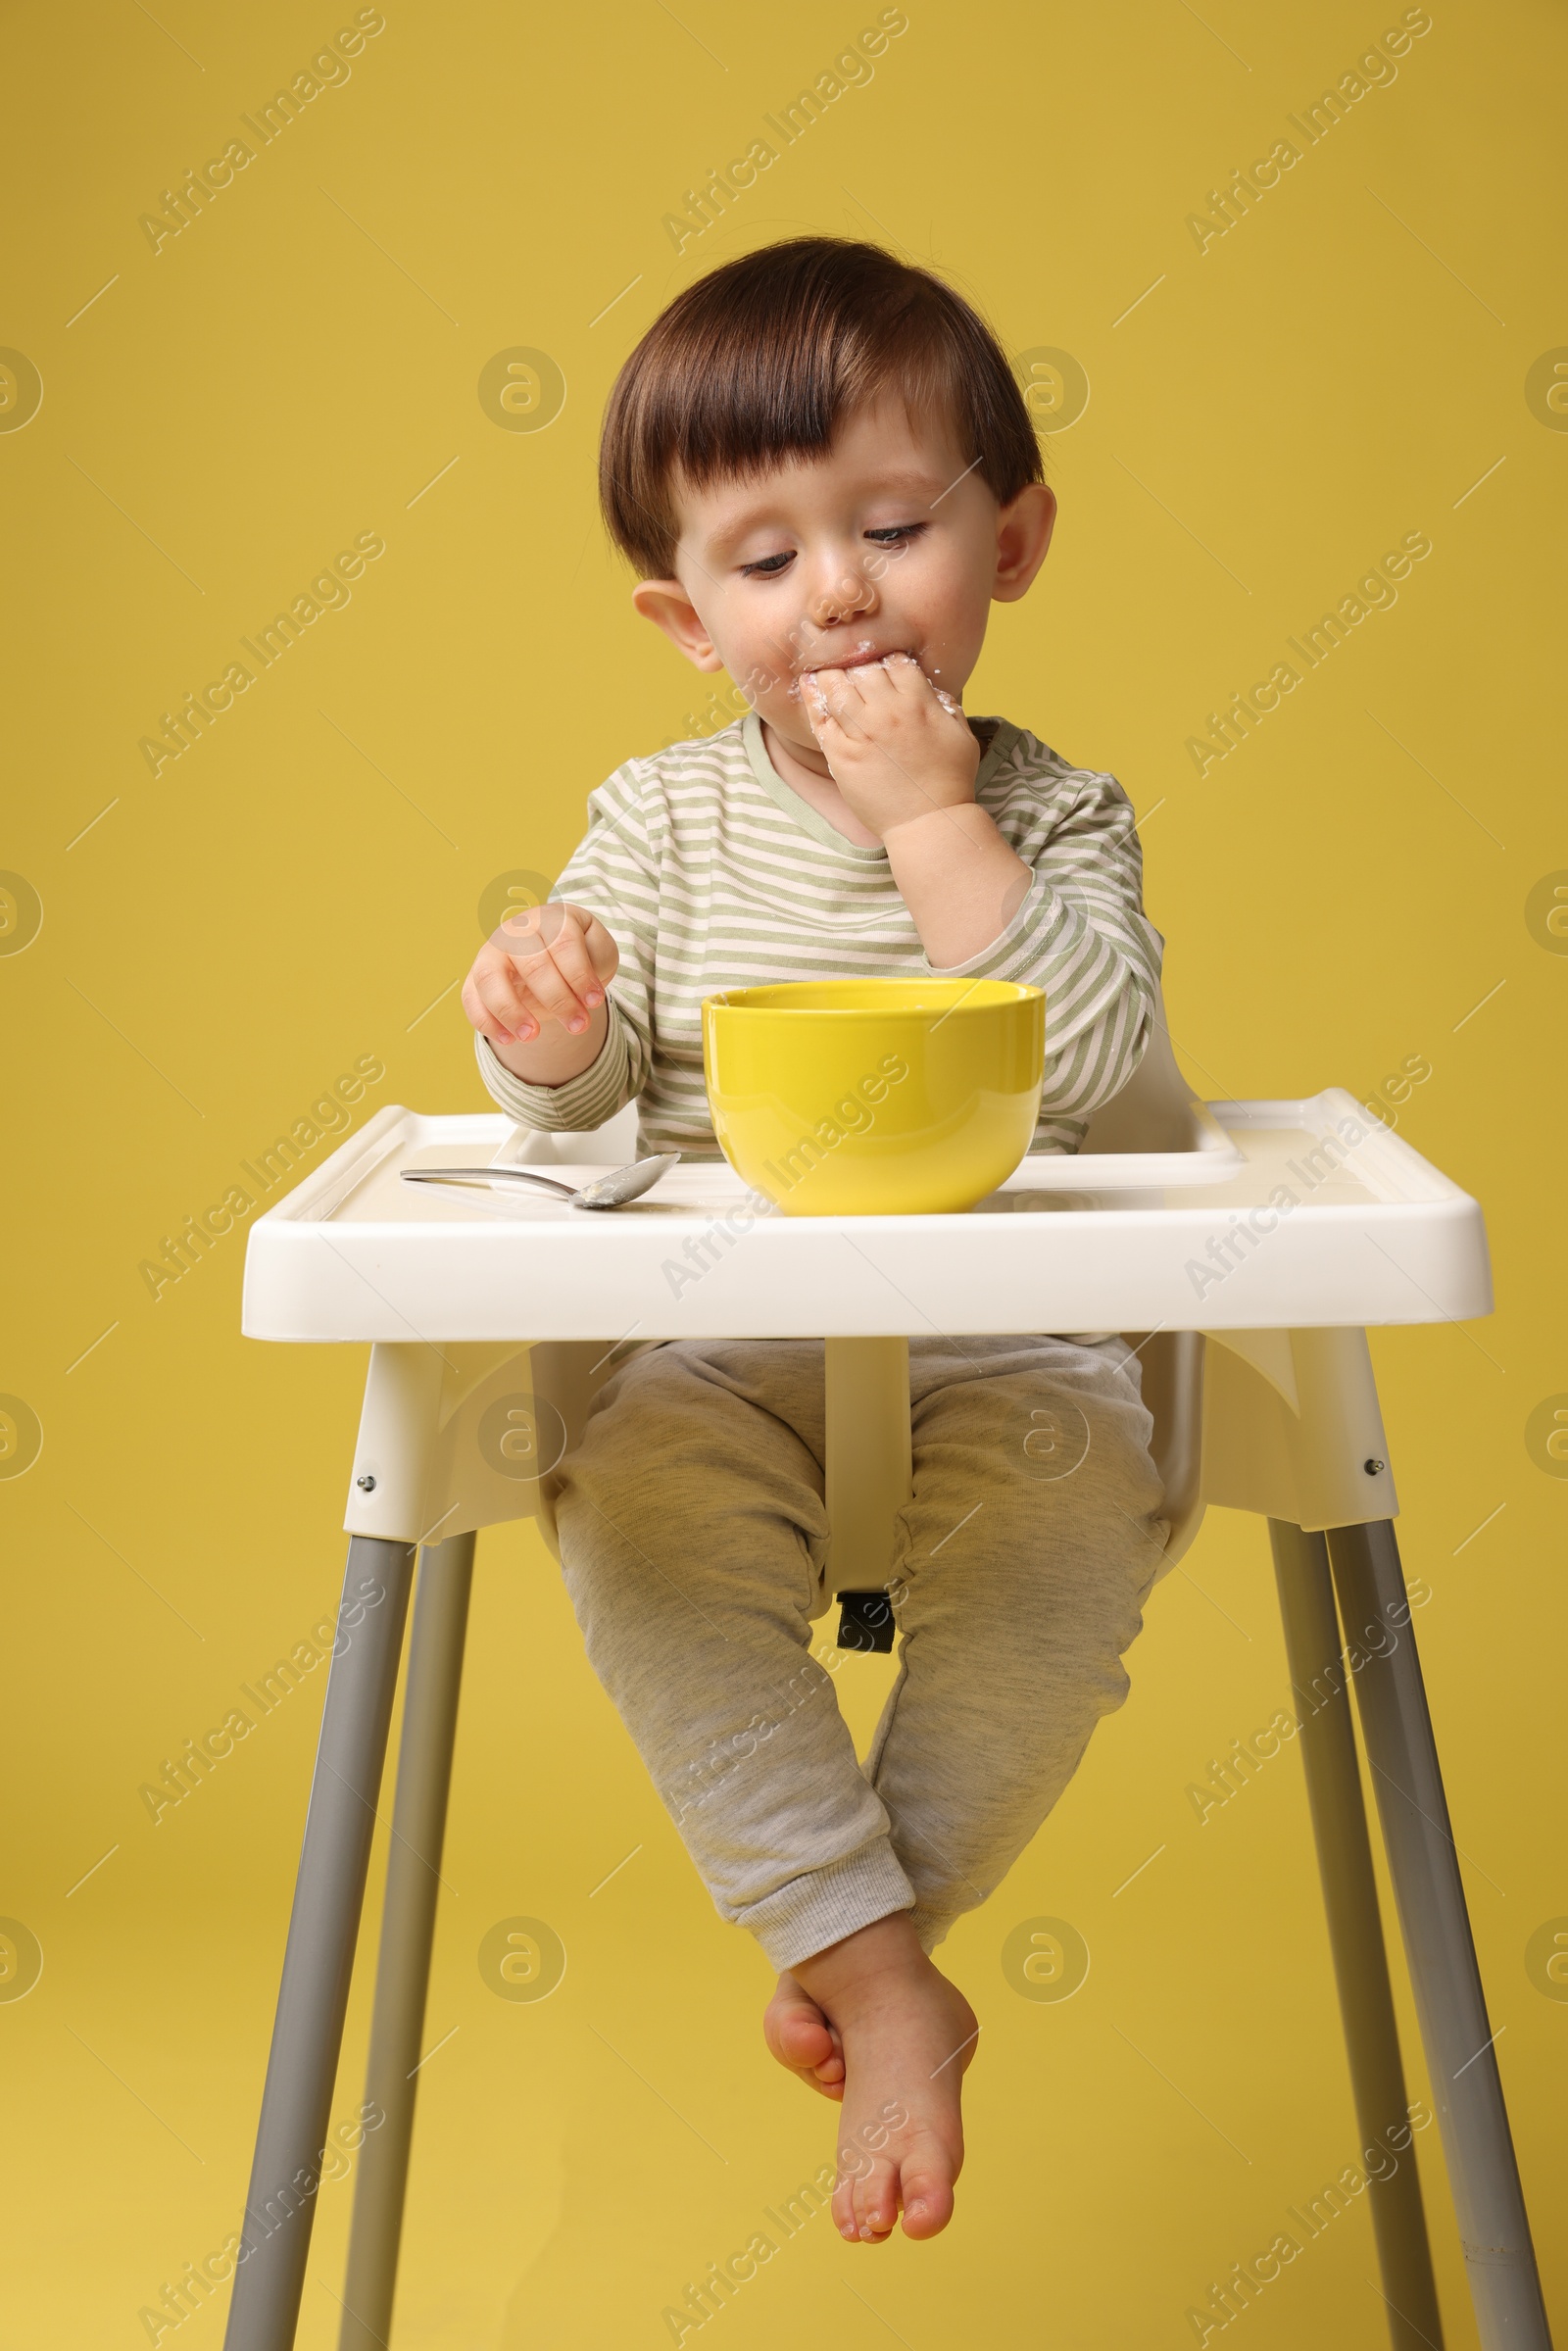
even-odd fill
[{"label": "plain yellow studio backdrop behind the child and high chair", "polygon": [[[677,256],[663,214],[872,7],[388,0],[353,80],[155,254],[139,214],[350,14],[160,0],[158,21],[96,5],[9,28],[0,343],[45,397],[0,435],[0,865],[45,919],[0,959],[0,1387],[45,1446],[0,1483],[0,1909],[45,1972],[0,2005],[0,2339],[146,2342],[139,2306],[237,2224],[324,1674],[158,1827],[136,1791],[341,1578],[362,1354],[242,1342],[240,1234],[158,1302],[139,1260],[362,1053],[388,1074],[360,1117],[484,1107],[454,994],[480,893],[555,875],[583,795],[689,731],[708,691],[635,623],[604,548],[602,400],[677,287],[797,230],[896,240],[1009,350],[1063,348],[1088,374],[1086,414],[1048,444],[1056,548],[997,614],[971,708],[1112,769],[1145,811],[1197,1086],[1368,1091],[1425,1056],[1399,1131],[1486,1204],[1495,1319],[1389,1331],[1373,1354],[1563,2327],[1568,2003],[1523,1956],[1568,1911],[1568,1488],[1523,1439],[1568,1387],[1568,964],[1526,924],[1530,889],[1568,868],[1549,684],[1568,440],[1523,390],[1568,341],[1561,14],[1434,0],[1399,80],[1199,254],[1185,219],[1206,190],[1399,9],[910,0],[875,80]],[[564,371],[548,430],[480,407],[512,346]],[[139,736],[364,529],[386,555],[353,604],[153,778]],[[1185,738],[1206,712],[1410,529],[1432,555],[1399,604],[1199,781]],[[715,2320],[731,2351],[1190,2342],[1208,2280],[1356,2154],[1298,1759],[1204,1827],[1185,1796],[1286,1700],[1262,1526],[1211,1516],[1187,1570],[1152,1601],[1126,1712],[945,1947],[985,2017],[957,2224],[867,2257],[813,2222]],[[684,2280],[832,2154],[832,2114],[764,2055],[764,1963],[715,1916],[531,1528],[480,1545],[470,1655],[428,2022],[454,2038],[423,2074],[397,2342],[651,2346]],[[884,1681],[842,1667],[860,1728]],[[569,1949],[541,2005],[480,1982],[480,1937],[510,1914]],[[1060,2005],[1001,1975],[1034,1914],[1093,1954]],[[334,2116],[360,2097],[364,2022],[362,1970]],[[1465,2346],[1436,2132],[1418,2144]],[[334,2342],[346,2217],[348,2189],[324,2189],[308,2346]],[[1373,2276],[1361,2201],[1246,2316],[1248,2344],[1382,2344]],[[221,2302],[162,2339],[216,2351]]]}]

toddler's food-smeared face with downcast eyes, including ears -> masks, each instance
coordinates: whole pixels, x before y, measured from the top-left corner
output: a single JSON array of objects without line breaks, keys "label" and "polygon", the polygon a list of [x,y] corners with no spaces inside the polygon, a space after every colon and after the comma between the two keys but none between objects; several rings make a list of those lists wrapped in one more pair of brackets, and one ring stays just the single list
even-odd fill
[{"label": "toddler's food-smeared face with downcast eyes, including ears", "polygon": [[961,696],[992,600],[1020,597],[1044,562],[1056,498],[1032,482],[997,505],[943,418],[884,395],[844,418],[827,456],[677,487],[677,576],[642,581],[632,602],[818,764],[802,677],[912,654]]}]

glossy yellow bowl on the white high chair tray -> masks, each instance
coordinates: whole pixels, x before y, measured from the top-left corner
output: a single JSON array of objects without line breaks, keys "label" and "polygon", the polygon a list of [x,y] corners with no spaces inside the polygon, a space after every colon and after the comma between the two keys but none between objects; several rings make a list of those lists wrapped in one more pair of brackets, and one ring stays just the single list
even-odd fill
[{"label": "glossy yellow bowl on the white high chair tray", "polygon": [[719,1150],[785,1215],[973,1208],[1030,1147],[1044,1063],[1044,990],[1016,980],[703,997]]}]

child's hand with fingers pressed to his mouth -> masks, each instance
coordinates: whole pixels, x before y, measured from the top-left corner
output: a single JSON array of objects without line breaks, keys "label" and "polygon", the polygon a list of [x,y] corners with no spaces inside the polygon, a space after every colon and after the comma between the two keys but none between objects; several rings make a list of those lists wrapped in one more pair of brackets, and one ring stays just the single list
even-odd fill
[{"label": "child's hand with fingers pressed to his mouth", "polygon": [[976,797],[980,745],[912,654],[809,670],[802,710],[839,792],[872,832]]}]

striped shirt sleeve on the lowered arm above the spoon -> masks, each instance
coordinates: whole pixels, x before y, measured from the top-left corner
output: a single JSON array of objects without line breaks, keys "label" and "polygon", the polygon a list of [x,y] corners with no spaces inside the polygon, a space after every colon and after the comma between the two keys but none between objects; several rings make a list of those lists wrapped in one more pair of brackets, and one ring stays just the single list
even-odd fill
[{"label": "striped shirt sleeve on the lowered arm above the spoon", "polygon": [[649,1081],[658,853],[642,783],[642,762],[628,759],[588,795],[588,832],[550,891],[550,900],[571,900],[597,915],[621,950],[604,992],[609,1025],[597,1058],[562,1086],[531,1086],[496,1060],[487,1037],[475,1037],[484,1089],[517,1126],[588,1133],[614,1119]]}]

